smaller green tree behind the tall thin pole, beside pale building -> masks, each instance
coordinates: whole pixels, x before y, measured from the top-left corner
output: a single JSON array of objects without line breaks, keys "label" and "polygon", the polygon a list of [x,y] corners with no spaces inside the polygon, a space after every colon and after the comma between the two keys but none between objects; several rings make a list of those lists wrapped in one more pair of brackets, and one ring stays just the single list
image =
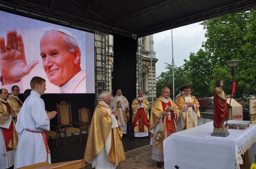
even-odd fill
[{"label": "smaller green tree behind the tall thin pole, beside pale building", "polygon": [[[170,88],[172,98],[172,64],[166,64],[167,72],[162,72],[159,76],[156,77],[156,94],[157,97],[161,95],[161,89],[163,87]],[[167,81],[171,81],[171,85],[167,85]],[[187,75],[182,67],[177,67],[174,65],[174,96],[180,93],[180,88],[188,83]]]}]

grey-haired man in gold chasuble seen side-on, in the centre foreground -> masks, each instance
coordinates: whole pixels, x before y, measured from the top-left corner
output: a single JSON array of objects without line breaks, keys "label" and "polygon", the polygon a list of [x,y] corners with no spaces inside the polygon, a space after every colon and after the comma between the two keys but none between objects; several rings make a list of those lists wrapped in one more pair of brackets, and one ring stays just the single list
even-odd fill
[{"label": "grey-haired man in gold chasuble seen side-on, in the centre foreground", "polygon": [[110,93],[103,91],[100,99],[91,119],[84,159],[93,168],[114,169],[119,162],[126,159],[122,143],[123,133],[116,119],[118,113],[113,112],[109,106]]}]

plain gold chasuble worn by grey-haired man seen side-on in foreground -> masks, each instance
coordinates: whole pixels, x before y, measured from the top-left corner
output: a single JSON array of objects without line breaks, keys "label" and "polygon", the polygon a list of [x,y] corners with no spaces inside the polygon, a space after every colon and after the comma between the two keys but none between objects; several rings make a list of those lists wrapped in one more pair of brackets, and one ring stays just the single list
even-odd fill
[{"label": "plain gold chasuble worn by grey-haired man seen side-on in foreground", "polygon": [[[86,162],[93,159],[105,147],[105,141],[111,133],[111,147],[108,154],[110,162],[118,166],[120,161],[126,159],[122,143],[122,130],[118,127],[111,129],[112,118],[105,109],[105,105],[99,101],[91,119],[90,133],[86,143],[84,159]],[[110,107],[109,107],[110,108]],[[111,112],[112,109],[110,108]]]}]

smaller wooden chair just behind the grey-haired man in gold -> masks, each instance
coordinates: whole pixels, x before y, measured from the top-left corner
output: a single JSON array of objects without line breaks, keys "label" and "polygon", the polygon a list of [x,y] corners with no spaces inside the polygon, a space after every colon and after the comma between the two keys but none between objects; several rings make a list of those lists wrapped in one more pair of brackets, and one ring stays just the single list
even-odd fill
[{"label": "smaller wooden chair just behind the grey-haired man in gold", "polygon": [[88,138],[88,134],[90,131],[90,124],[91,124],[90,109],[86,109],[86,108],[79,109],[78,114],[79,114],[81,133],[82,131],[86,131],[86,138]]}]

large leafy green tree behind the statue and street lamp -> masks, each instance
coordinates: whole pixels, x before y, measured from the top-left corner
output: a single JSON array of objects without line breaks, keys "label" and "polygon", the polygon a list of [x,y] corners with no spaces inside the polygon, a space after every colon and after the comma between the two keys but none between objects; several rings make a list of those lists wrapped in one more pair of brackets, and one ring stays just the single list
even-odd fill
[{"label": "large leafy green tree behind the statue and street lamp", "polygon": [[[201,24],[206,30],[207,40],[202,43],[205,51],[200,49],[197,54],[190,54],[190,60],[185,60],[184,65],[192,83],[193,95],[202,97],[199,92],[201,88],[205,91],[205,97],[209,96],[218,79],[224,81],[224,90],[230,94],[231,68],[225,65],[225,61],[241,60],[241,64],[235,68],[235,81],[236,97],[242,97],[256,80],[256,8],[210,19]],[[195,76],[197,73],[198,76]],[[255,93],[254,87],[247,95]]]}]

